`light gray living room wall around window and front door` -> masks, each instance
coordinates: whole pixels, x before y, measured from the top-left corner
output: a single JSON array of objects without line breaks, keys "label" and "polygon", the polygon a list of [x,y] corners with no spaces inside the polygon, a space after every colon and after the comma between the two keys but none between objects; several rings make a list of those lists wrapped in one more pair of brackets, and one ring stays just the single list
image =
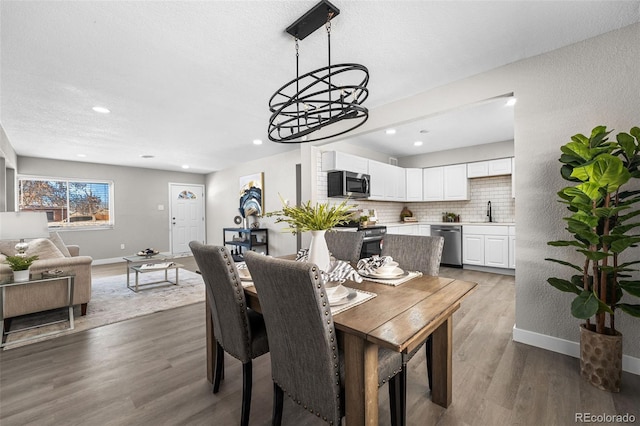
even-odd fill
[{"label": "light gray living room wall around window and front door", "polygon": [[[60,231],[80,254],[100,260],[121,260],[147,247],[170,251],[169,182],[204,184],[204,175],[75,161],[18,157],[18,173],[114,182],[115,226],[105,230]],[[158,210],[158,204],[165,209]],[[120,244],[125,249],[120,249]],[[123,268],[124,272],[124,268]]]}]

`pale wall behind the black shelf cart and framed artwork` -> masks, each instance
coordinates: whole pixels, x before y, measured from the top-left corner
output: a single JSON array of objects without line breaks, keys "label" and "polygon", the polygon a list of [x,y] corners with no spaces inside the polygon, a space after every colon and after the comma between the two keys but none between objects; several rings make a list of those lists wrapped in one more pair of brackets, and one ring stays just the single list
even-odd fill
[{"label": "pale wall behind the black shelf cart and framed artwork", "polygon": [[[233,218],[239,214],[241,176],[264,173],[265,212],[281,208],[278,194],[294,204],[296,164],[298,163],[301,163],[300,150],[294,150],[207,175],[207,243],[222,244],[222,229],[237,226],[233,223]],[[281,232],[283,228],[281,224],[275,225],[271,218],[261,218],[259,221],[262,227],[269,228],[270,255],[280,256],[296,252],[295,237],[290,233]]]}]

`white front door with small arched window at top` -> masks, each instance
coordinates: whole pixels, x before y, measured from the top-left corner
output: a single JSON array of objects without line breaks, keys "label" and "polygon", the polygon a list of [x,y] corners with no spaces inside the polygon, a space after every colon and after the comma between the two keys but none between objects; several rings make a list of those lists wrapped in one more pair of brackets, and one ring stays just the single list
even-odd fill
[{"label": "white front door with small arched window at top", "polygon": [[171,253],[190,253],[189,242],[204,244],[204,186],[169,184]]}]

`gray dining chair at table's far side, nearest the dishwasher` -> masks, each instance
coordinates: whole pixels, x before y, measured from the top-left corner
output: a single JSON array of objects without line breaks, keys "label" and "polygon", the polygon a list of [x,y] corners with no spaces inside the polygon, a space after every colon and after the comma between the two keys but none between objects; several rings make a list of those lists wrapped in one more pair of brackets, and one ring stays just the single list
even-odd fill
[{"label": "gray dining chair at table's far side, nearest the dishwasher", "polygon": [[[387,234],[382,242],[382,256],[391,256],[398,262],[398,266],[405,271],[420,271],[424,275],[437,277],[440,273],[440,259],[442,259],[442,249],[444,248],[444,238],[429,237],[421,235],[396,235]],[[432,387],[432,360],[433,360],[433,339],[431,335],[425,340],[425,353],[427,359],[427,382],[429,389]],[[420,350],[422,344],[403,359],[403,369],[406,370],[407,362]],[[406,395],[406,375],[402,376],[400,384],[401,395]],[[403,406],[406,400],[402,401]],[[402,411],[406,412],[406,409]]]}]

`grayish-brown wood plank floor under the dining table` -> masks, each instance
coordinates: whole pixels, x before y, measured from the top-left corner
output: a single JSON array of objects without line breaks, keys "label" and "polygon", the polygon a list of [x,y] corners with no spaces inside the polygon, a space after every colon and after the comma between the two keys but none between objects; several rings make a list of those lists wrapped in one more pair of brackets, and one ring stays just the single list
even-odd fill
[{"label": "grayish-brown wood plank floor under the dining table", "polygon": [[[195,270],[192,259],[181,259]],[[95,276],[123,265],[94,267]],[[574,425],[575,413],[633,414],[640,376],[624,373],[619,394],[579,376],[578,360],[514,343],[513,277],[443,268],[479,283],[454,314],[453,404],[432,404],[424,356],[409,364],[410,425]],[[242,369],[225,360],[220,392],[206,381],[204,303],[0,352],[0,424],[235,425]],[[269,356],[254,361],[251,424],[271,422]],[[381,424],[389,424],[380,392]],[[285,425],[323,422],[285,399]],[[597,424],[597,423],[596,423]]]}]

